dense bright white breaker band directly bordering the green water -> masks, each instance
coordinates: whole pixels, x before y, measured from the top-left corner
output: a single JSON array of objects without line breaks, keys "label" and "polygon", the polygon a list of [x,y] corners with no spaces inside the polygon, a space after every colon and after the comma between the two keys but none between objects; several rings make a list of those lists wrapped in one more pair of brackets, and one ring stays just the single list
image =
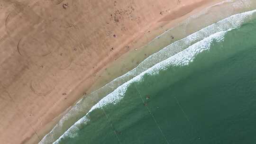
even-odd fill
[{"label": "dense bright white breaker band directly bordering the green water", "polygon": [[183,50],[182,52],[179,52],[177,54],[174,54],[170,58],[155,64],[153,67],[150,69],[147,69],[145,72],[140,73],[133,79],[125,82],[121,86],[119,86],[116,90],[111,92],[109,95],[101,99],[96,105],[94,105],[90,111],[81,119],[79,119],[73,126],[71,126],[57,141],[55,141],[54,144],[58,144],[59,140],[63,137],[75,137],[76,132],[79,130],[80,125],[84,125],[89,121],[88,115],[91,113],[91,111],[97,109],[97,108],[102,108],[108,104],[115,104],[119,102],[123,97],[124,94],[128,88],[128,86],[133,83],[140,81],[145,74],[153,75],[158,73],[160,70],[166,69],[170,65],[187,65],[190,62],[193,61],[195,56],[199,53],[201,53],[204,50],[207,50],[210,48],[210,44],[212,41],[215,39],[217,42],[223,40],[225,34],[227,31],[221,31],[217,32],[213,35],[210,35],[207,38],[204,38],[203,40],[189,46],[187,49]]}]

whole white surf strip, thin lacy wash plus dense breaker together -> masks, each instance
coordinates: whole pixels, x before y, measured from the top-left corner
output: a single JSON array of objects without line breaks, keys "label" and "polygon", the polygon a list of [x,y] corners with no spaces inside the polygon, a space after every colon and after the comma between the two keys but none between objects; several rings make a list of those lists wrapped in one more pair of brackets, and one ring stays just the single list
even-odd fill
[{"label": "whole white surf strip, thin lacy wash plus dense breaker together", "polygon": [[[166,46],[164,49],[160,50],[159,52],[152,54],[151,56],[146,58],[142,63],[140,63],[136,68],[134,68],[132,71],[127,72],[123,76],[120,76],[119,78],[116,78],[115,80],[111,81],[109,84],[105,85],[104,87],[115,88],[115,85],[119,82],[119,80],[128,79],[127,82],[121,84],[117,89],[115,89],[113,92],[111,92],[106,97],[101,99],[96,105],[94,105],[84,117],[79,119],[63,135],[61,135],[54,142],[54,144],[58,144],[59,140],[63,137],[76,136],[75,133],[77,132],[77,130],[79,130],[79,126],[86,124],[90,120],[88,118],[88,115],[89,113],[91,113],[91,111],[97,108],[102,108],[103,106],[106,106],[108,104],[116,104],[117,102],[119,102],[123,98],[128,86],[132,82],[140,81],[143,78],[144,74],[146,73],[151,75],[156,74],[160,70],[167,68],[169,65],[189,64],[190,62],[193,61],[193,59],[197,54],[201,53],[204,50],[209,49],[210,44],[214,39],[216,41],[221,41],[229,29],[240,27],[241,24],[244,22],[244,20],[246,18],[249,18],[255,12],[256,10],[252,10],[252,11],[236,14],[229,18],[220,20],[215,24],[205,27],[200,31],[193,33],[190,36],[187,36],[179,41],[174,42],[171,45]],[[207,38],[204,38],[204,37],[207,37]],[[181,49],[184,49],[184,50],[179,52],[181,49],[177,50],[177,47],[181,47]],[[133,77],[133,78],[129,80],[130,77]],[[103,87],[101,89],[103,90]],[[96,92],[97,91],[94,91],[93,93],[96,93]],[[77,104],[81,102],[82,100],[77,102]],[[75,105],[71,109],[71,112],[72,111],[82,111],[82,109],[79,108],[79,106]],[[67,115],[65,115],[55,127],[62,126],[64,122],[68,119],[68,117],[70,117],[69,114],[71,112],[67,113]],[[50,141],[54,140],[54,136],[55,136],[55,134],[53,133],[53,130],[49,134],[47,134],[39,144],[51,143]],[[49,141],[47,141],[47,139]]]}]

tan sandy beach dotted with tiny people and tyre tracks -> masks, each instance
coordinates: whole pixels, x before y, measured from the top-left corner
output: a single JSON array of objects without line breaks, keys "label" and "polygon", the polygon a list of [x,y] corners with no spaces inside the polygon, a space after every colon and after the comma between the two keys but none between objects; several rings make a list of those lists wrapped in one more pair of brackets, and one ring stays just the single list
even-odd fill
[{"label": "tan sandy beach dotted with tiny people and tyre tracks", "polygon": [[37,144],[82,95],[130,70],[114,66],[120,56],[220,1],[1,0],[0,143]]}]

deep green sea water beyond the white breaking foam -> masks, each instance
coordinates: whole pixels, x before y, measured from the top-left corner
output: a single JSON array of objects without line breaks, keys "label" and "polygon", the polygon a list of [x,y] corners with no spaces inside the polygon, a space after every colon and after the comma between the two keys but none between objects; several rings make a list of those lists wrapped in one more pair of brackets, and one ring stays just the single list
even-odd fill
[{"label": "deep green sea water beyond the white breaking foam", "polygon": [[[148,99],[147,99],[148,97]],[[58,144],[254,144],[256,19],[185,65],[132,82]]]}]

